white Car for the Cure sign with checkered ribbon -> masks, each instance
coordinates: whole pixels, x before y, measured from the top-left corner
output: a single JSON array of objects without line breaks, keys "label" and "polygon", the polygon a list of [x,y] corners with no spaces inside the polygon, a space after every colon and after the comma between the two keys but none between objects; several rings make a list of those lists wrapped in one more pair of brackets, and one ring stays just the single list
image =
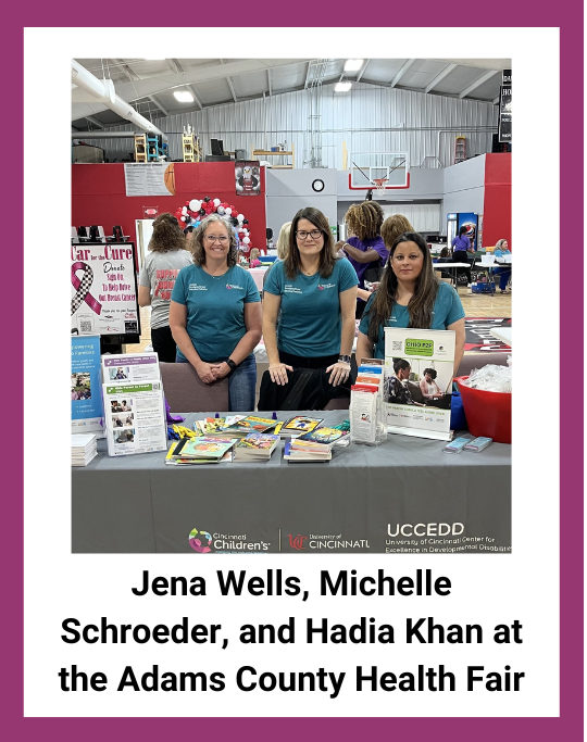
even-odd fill
[{"label": "white Car for the Cure sign with checkered ribbon", "polygon": [[72,335],[140,335],[134,242],[72,244]]}]

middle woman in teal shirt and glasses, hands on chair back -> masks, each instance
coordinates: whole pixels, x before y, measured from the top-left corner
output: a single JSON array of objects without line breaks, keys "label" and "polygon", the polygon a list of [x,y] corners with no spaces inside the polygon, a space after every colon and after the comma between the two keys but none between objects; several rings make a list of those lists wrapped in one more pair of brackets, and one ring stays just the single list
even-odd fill
[{"label": "middle woman in teal shirt and glasses, hands on chair back", "polygon": [[336,255],[328,219],[317,209],[301,209],[291,222],[287,255],[274,264],[264,287],[272,381],[286,385],[287,372],[296,368],[325,368],[334,386],[349,379],[357,284],[352,265]]}]

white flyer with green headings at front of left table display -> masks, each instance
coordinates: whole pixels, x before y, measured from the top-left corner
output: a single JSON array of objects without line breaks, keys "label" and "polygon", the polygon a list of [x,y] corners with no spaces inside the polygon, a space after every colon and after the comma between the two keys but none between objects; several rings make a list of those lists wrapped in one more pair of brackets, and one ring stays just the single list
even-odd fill
[{"label": "white flyer with green headings at front of left table display", "polygon": [[104,383],[108,453],[166,451],[167,423],[161,381]]}]

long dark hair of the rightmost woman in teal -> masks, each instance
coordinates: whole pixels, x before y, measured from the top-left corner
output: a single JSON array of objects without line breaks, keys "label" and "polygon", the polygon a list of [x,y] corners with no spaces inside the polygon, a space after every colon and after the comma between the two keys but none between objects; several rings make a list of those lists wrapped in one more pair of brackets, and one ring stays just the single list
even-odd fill
[{"label": "long dark hair of the rightmost woman in teal", "polygon": [[422,235],[415,231],[407,231],[400,235],[391,246],[382,276],[382,282],[375,292],[375,299],[370,309],[369,339],[373,343],[378,341],[379,328],[385,327],[385,323],[389,319],[394,310],[396,292],[398,290],[398,278],[394,273],[392,260],[398,244],[402,242],[415,242],[424,257],[422,272],[416,278],[414,294],[408,303],[408,314],[410,315],[408,327],[429,329],[432,324],[432,313],[439,286],[438,278],[434,275],[428,246]]}]

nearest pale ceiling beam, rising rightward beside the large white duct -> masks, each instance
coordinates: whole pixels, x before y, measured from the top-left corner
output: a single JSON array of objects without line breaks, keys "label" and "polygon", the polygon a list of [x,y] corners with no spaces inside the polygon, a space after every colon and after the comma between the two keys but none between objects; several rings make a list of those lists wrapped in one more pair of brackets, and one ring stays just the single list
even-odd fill
[{"label": "nearest pale ceiling beam, rising rightward beside the large white duct", "polygon": [[200,65],[193,70],[177,72],[171,75],[160,75],[148,79],[135,80],[134,83],[116,83],[116,92],[125,100],[137,100],[147,96],[157,96],[173,88],[185,87],[223,77],[235,77],[249,72],[265,72],[267,67],[284,66],[305,62],[305,60],[241,60],[212,66]]}]

